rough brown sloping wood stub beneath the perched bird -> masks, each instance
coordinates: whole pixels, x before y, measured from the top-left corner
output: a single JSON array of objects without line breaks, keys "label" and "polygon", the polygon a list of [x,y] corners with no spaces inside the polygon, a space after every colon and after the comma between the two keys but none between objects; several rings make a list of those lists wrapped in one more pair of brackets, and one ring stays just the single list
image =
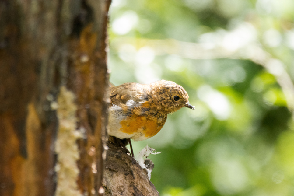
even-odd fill
[{"label": "rough brown sloping wood stub beneath the perched bird", "polygon": [[142,169],[117,140],[110,136],[107,144],[109,149],[102,182],[105,196],[159,196],[147,176],[147,171]]}]

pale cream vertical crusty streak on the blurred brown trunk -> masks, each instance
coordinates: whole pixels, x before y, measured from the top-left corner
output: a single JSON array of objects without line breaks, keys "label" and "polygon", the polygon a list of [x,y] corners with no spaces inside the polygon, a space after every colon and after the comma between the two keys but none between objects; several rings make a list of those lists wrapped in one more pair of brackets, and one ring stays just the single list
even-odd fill
[{"label": "pale cream vertical crusty streak on the blurred brown trunk", "polygon": [[82,137],[82,134],[76,130],[76,110],[74,94],[65,86],[61,86],[57,109],[58,134],[55,142],[57,154],[56,196],[82,195],[76,182],[79,175],[76,162],[80,158],[76,140]]}]

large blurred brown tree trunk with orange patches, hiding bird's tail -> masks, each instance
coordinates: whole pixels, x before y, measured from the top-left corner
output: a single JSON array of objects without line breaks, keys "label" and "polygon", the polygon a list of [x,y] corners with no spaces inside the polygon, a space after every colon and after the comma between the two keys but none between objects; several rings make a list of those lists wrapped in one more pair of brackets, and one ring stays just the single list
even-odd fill
[{"label": "large blurred brown tree trunk with orange patches, hiding bird's tail", "polygon": [[0,1],[1,196],[99,194],[109,5]]}]

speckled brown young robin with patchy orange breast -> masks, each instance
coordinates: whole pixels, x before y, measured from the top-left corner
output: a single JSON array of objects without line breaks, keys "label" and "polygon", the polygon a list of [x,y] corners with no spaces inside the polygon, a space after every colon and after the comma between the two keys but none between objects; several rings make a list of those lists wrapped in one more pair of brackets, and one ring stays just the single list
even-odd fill
[{"label": "speckled brown young robin with patchy orange breast", "polygon": [[111,87],[108,134],[129,142],[151,138],[163,127],[167,114],[182,107],[194,110],[188,98],[182,86],[166,80]]}]

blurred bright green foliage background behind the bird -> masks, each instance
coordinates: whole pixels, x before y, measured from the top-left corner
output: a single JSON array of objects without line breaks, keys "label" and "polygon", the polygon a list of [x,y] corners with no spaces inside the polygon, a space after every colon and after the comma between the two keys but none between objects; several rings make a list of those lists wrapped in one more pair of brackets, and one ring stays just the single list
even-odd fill
[{"label": "blurred bright green foliage background behind the bird", "polygon": [[161,152],[160,195],[294,194],[293,19],[293,0],[113,0],[110,81],[172,80],[195,106],[133,142]]}]

